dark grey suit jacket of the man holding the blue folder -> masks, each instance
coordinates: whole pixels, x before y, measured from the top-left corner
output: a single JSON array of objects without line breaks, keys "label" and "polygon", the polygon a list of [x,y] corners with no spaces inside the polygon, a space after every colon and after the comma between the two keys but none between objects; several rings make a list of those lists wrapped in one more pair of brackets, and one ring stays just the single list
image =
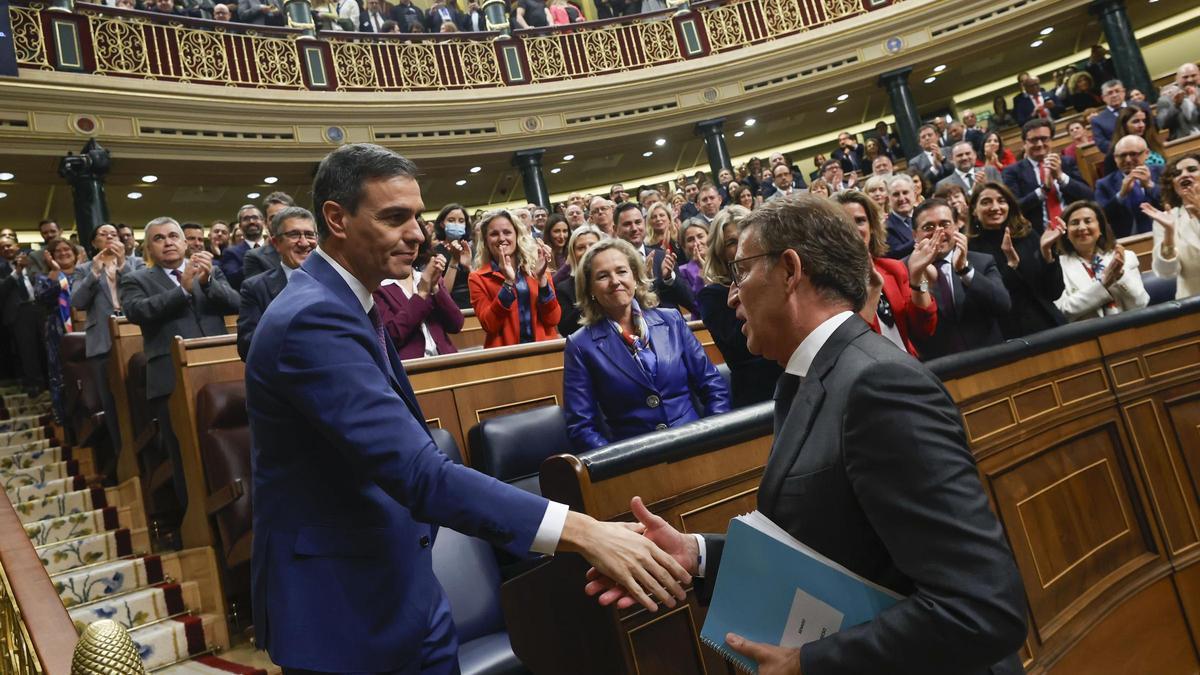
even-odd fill
[{"label": "dark grey suit jacket of the man holding the blue folder", "polygon": [[[959,411],[932,372],[857,315],[776,417],[758,510],[906,596],[805,645],[804,673],[1022,671],[1025,590]],[[707,578],[718,577],[724,537],[706,546]]]}]

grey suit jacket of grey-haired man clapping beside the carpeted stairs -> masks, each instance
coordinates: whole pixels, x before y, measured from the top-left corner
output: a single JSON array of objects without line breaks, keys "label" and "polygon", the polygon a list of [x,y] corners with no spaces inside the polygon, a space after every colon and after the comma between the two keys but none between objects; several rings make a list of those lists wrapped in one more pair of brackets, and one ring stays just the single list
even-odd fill
[{"label": "grey suit jacket of grey-haired man clapping beside the carpeted stairs", "polygon": [[192,285],[188,295],[160,267],[139,269],[121,277],[121,307],[142,328],[146,354],[146,398],[157,399],[175,388],[170,344],[181,338],[226,335],[224,315],[236,313],[238,293],[212,265],[208,287]]}]

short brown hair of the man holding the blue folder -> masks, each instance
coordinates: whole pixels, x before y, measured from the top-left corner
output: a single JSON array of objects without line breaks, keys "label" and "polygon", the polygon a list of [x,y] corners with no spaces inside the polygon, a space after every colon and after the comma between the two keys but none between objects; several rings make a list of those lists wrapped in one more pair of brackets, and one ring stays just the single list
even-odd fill
[{"label": "short brown hair of the man holding the blue folder", "polygon": [[748,229],[775,259],[796,251],[804,275],[827,300],[863,309],[871,258],[841,204],[815,195],[772,199],[742,221],[742,231]]}]

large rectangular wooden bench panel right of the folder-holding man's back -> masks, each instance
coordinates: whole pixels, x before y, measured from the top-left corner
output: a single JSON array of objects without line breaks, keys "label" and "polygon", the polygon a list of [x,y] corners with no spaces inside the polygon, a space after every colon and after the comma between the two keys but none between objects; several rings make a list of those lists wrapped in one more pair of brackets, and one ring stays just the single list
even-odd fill
[{"label": "large rectangular wooden bench panel right of the folder-holding man's back", "polygon": [[1072,603],[1117,583],[1124,566],[1153,557],[1130,498],[1117,420],[1092,416],[1076,426],[1064,440],[1056,430],[1022,442],[1040,452],[990,476],[1043,641],[1074,615]]}]

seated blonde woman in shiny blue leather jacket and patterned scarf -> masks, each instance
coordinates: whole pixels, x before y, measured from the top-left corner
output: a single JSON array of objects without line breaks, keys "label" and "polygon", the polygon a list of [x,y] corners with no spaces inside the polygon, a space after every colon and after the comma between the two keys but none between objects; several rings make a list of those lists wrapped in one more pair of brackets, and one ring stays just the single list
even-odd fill
[{"label": "seated blonde woman in shiny blue leather jacket and patterned scarf", "polygon": [[577,452],[728,412],[728,386],[679,312],[654,309],[629,243],[588,249],[575,288],[583,327],[566,339],[563,395]]}]

